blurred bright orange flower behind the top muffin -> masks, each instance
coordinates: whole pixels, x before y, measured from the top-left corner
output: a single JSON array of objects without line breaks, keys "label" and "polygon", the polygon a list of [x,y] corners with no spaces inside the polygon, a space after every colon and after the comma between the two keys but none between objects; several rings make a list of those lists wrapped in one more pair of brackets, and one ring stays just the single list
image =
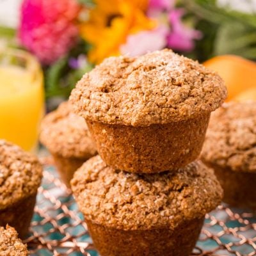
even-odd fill
[{"label": "blurred bright orange flower behind the top muffin", "polygon": [[88,21],[80,25],[81,36],[93,45],[89,60],[99,63],[108,56],[120,54],[119,47],[127,35],[156,26],[145,15],[146,0],[96,0]]}]

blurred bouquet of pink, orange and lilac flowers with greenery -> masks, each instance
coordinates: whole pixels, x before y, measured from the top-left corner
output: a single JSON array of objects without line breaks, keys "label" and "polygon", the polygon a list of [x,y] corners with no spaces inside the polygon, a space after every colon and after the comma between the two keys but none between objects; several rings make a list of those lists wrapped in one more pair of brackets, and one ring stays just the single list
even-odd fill
[{"label": "blurred bouquet of pink, orange and lilac flowers with greenery", "polygon": [[67,98],[108,56],[167,47],[199,61],[221,54],[255,60],[253,6],[249,13],[235,7],[221,0],[23,0],[17,44],[42,63],[47,99]]}]

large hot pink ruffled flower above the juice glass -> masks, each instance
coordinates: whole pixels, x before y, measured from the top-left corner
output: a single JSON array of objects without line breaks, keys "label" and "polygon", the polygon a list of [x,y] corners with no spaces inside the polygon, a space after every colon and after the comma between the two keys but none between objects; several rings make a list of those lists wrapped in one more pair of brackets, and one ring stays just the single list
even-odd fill
[{"label": "large hot pink ruffled flower above the juice glass", "polygon": [[76,44],[76,0],[24,0],[19,39],[42,63],[49,65]]}]

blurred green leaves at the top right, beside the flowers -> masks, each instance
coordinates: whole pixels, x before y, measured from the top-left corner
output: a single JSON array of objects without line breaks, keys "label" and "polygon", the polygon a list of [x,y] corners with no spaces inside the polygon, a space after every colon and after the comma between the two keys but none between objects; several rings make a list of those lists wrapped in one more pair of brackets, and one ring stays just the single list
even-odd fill
[{"label": "blurred green leaves at the top right, beside the flowers", "polygon": [[183,7],[198,18],[204,37],[196,42],[196,56],[204,61],[218,54],[236,54],[255,60],[256,15],[218,6],[216,0],[183,0]]}]

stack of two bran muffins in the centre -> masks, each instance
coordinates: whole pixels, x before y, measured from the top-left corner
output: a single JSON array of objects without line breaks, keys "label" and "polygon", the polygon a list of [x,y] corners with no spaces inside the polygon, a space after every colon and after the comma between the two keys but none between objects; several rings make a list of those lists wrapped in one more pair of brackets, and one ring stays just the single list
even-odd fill
[{"label": "stack of two bran muffins in the centre", "polygon": [[77,170],[72,190],[100,255],[191,253],[221,201],[195,159],[226,94],[218,75],[170,50],[108,58],[77,83],[70,102],[100,156]]}]

